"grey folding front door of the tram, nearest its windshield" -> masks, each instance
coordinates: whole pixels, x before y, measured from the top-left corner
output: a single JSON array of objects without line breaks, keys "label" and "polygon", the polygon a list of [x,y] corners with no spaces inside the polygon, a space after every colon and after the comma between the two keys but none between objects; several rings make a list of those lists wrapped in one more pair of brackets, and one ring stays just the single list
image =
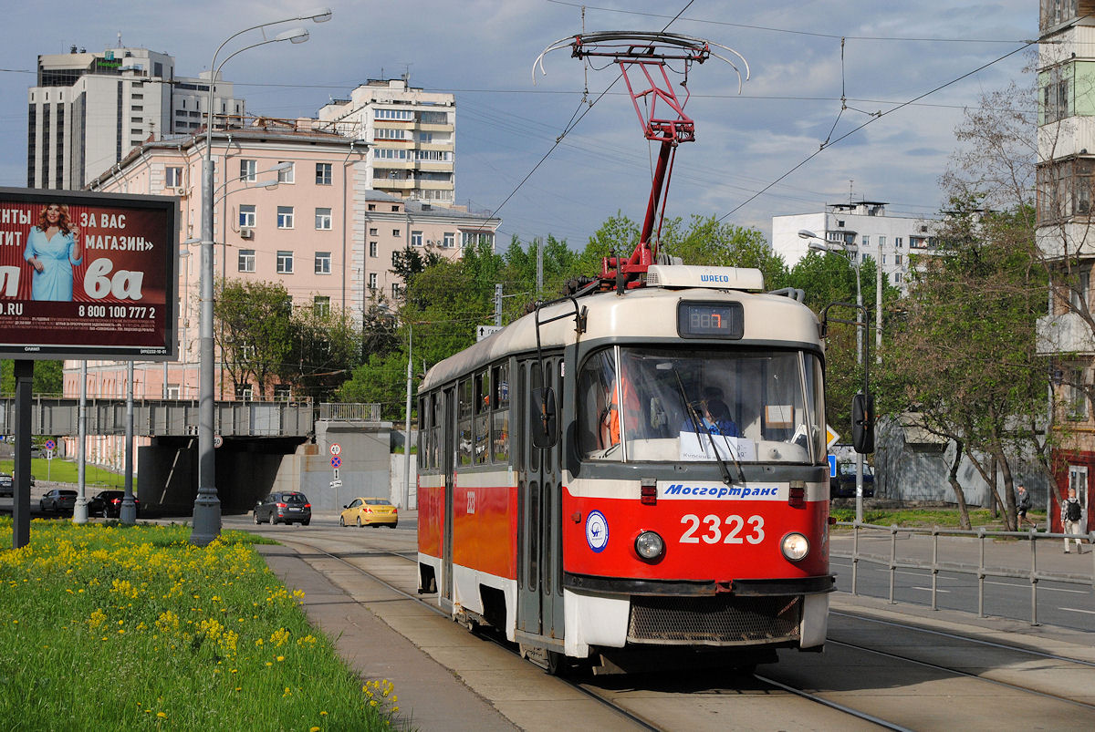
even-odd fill
[{"label": "grey folding front door of the tram, nearest its windshield", "polygon": [[[555,403],[562,406],[562,356],[544,359],[544,376],[555,388]],[[518,414],[528,420],[529,394],[540,385],[535,359],[518,364],[521,404]],[[561,420],[562,421],[562,420]],[[518,613],[517,628],[533,635],[563,638],[563,556],[560,532],[562,500],[562,450],[533,448],[528,425],[520,430],[522,445],[518,460]],[[562,442],[562,438],[560,440]]]}]

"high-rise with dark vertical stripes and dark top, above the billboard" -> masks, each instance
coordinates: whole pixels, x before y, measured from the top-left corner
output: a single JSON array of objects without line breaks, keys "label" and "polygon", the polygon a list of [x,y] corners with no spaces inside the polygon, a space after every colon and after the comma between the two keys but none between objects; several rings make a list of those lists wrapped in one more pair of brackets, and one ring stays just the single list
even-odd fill
[{"label": "high-rise with dark vertical stripes and dark top, above the billboard", "polygon": [[[26,185],[82,188],[149,139],[204,125],[209,72],[175,75],[175,59],[147,48],[38,56],[27,91]],[[239,119],[244,101],[214,85],[214,113]]]}]

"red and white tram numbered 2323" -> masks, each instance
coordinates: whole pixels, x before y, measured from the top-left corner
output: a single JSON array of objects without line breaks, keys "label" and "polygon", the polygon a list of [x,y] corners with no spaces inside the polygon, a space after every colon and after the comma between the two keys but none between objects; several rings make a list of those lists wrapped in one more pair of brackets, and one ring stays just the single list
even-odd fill
[{"label": "red and white tram numbered 2323", "polygon": [[800,293],[762,290],[652,265],[430,369],[420,590],[552,669],[821,650],[823,346]]}]

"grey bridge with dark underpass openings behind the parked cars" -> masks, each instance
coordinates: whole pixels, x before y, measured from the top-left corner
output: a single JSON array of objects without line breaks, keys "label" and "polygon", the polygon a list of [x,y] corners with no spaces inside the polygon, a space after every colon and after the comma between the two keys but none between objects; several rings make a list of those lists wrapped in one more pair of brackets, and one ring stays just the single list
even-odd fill
[{"label": "grey bridge with dark underpass openings behind the parked cars", "polygon": [[[85,416],[87,435],[124,441],[125,399],[88,399]],[[215,456],[221,511],[249,511],[260,497],[272,490],[314,493],[316,487],[330,483],[330,456],[325,451],[326,443],[335,439],[347,446],[358,445],[358,462],[370,475],[369,483],[374,483],[381,452],[387,465],[391,430],[391,423],[380,421],[379,417],[380,407],[374,404],[216,403],[214,433],[220,440]],[[32,435],[76,440],[79,419],[79,399],[32,402]],[[0,399],[0,433],[18,440],[21,435],[15,433],[15,423],[14,399]],[[196,400],[134,400],[134,437],[138,443],[135,465],[142,514],[189,514],[197,495],[197,431]],[[316,444],[316,432],[325,444]],[[332,434],[336,437],[328,437]],[[355,463],[349,460],[344,475],[351,476],[354,468]]]}]

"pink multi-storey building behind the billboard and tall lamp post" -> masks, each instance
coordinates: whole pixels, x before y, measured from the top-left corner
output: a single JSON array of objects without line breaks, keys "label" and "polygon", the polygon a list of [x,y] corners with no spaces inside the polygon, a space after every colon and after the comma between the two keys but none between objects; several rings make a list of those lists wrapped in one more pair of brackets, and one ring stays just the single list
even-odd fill
[{"label": "pink multi-storey building behind the billboard and tall lamp post", "polygon": [[[391,297],[400,286],[391,272],[394,252],[431,245],[459,257],[468,244],[493,244],[498,219],[374,190],[372,146],[313,126],[310,119],[261,119],[245,129],[214,131],[218,279],[280,281],[298,305],[345,306],[360,318],[373,294]],[[89,185],[104,193],[178,197],[180,360],[138,362],[138,399],[197,397],[200,256],[195,240],[201,229],[205,150],[204,133],[149,141]],[[79,365],[66,362],[67,396],[79,393]],[[125,363],[89,362],[89,397],[119,398],[125,393]],[[218,377],[216,394],[220,400],[237,398],[227,379]],[[293,398],[284,392],[279,396]]]}]

